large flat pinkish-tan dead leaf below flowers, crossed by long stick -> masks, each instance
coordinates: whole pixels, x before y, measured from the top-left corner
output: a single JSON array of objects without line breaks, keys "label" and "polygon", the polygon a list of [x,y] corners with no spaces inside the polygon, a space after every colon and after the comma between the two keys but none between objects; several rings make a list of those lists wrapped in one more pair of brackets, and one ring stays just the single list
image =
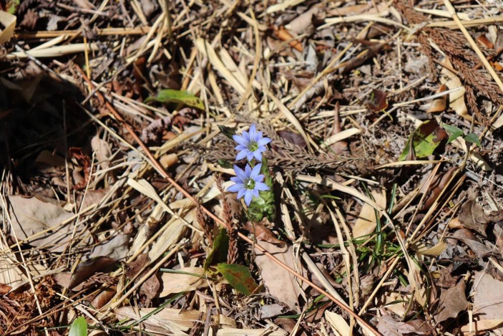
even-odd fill
[{"label": "large flat pinkish-tan dead leaf below flowers, crossed by long stick", "polygon": [[[296,268],[291,245],[278,246],[266,241],[262,241],[260,245],[286,265]],[[278,267],[276,263],[258,249],[256,249],[256,253],[255,262],[261,270],[262,280],[269,294],[286,304],[291,310],[300,312],[298,296],[302,289],[296,278],[284,268]]]}]

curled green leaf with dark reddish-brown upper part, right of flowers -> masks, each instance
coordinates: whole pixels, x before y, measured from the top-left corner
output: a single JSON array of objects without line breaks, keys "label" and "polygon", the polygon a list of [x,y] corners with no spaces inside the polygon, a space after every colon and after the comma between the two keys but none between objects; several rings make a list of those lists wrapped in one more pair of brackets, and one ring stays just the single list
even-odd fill
[{"label": "curled green leaf with dark reddish-brown upper part, right of flowers", "polygon": [[447,132],[439,126],[437,121],[427,120],[412,132],[400,154],[399,161],[405,160],[411,149],[413,150],[411,157],[424,158],[432,155],[445,138],[447,138]]}]

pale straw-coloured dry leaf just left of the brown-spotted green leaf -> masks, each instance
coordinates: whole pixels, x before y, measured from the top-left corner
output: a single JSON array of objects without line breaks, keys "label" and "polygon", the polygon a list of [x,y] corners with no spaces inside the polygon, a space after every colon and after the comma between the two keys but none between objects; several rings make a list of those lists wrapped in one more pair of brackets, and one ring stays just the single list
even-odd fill
[{"label": "pale straw-coloured dry leaf just left of the brown-spotted green leaf", "polygon": [[203,267],[184,267],[178,271],[180,273],[162,273],[159,297],[209,286],[208,281],[202,277]]}]

